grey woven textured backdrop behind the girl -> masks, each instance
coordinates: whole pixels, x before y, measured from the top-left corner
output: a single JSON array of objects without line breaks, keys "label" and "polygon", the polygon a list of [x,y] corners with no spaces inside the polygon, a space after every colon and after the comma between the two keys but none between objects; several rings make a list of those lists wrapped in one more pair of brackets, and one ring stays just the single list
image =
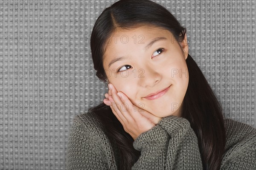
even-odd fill
[{"label": "grey woven textured backdrop behind the girl", "polygon": [[[0,170],[64,170],[74,116],[105,98],[90,34],[116,1],[0,0]],[[157,0],[225,116],[256,127],[256,1]]]}]

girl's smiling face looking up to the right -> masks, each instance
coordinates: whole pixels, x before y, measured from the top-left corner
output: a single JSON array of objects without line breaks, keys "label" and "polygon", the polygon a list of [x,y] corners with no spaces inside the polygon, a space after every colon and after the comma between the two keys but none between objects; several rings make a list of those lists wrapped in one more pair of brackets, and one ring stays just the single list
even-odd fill
[{"label": "girl's smiling face looking up to the right", "polygon": [[[107,42],[103,56],[108,82],[134,105],[155,116],[180,117],[189,83],[186,37],[180,45],[185,57],[178,42],[167,30],[142,26],[116,31]],[[145,98],[165,88],[168,89],[162,96]]]}]

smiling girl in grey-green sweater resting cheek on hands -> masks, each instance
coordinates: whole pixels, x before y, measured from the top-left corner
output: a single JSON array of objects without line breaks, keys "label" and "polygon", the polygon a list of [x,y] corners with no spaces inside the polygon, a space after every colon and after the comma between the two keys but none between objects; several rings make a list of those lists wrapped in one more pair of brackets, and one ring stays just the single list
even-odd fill
[{"label": "smiling girl in grey-green sweater resting cheek on hands", "polygon": [[256,129],[225,119],[186,28],[150,0],[120,0],[93,27],[103,103],[77,115],[70,170],[255,170]]}]

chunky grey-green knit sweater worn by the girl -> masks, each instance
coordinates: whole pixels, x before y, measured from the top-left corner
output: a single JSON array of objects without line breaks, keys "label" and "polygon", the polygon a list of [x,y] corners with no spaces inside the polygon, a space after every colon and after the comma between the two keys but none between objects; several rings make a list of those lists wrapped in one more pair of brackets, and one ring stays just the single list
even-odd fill
[{"label": "chunky grey-green knit sweater worn by the girl", "polygon": [[[256,129],[224,119],[225,153],[221,170],[256,170]],[[133,146],[141,151],[131,170],[203,170],[198,140],[187,119],[168,116],[141,133]],[[117,170],[116,145],[93,113],[75,116],[67,151],[68,170]]]}]

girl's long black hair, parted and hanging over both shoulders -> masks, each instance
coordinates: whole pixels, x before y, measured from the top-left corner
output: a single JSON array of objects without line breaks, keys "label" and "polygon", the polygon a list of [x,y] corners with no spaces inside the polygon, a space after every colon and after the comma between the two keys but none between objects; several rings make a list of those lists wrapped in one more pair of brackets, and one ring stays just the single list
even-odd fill
[{"label": "girl's long black hair, parted and hanging over both shoulders", "polygon": [[[120,0],[113,3],[96,20],[90,39],[94,69],[99,79],[104,82],[107,80],[102,59],[108,37],[117,29],[138,28],[143,25],[170,31],[179,44],[186,34],[186,28],[180,25],[174,15],[153,1]],[[219,170],[226,143],[221,104],[189,54],[186,64],[189,84],[182,103],[181,117],[189,120],[195,131],[204,170]],[[131,170],[140,156],[140,152],[133,147],[134,139],[125,132],[111,108],[103,102],[90,108],[88,112],[97,115],[108,138],[116,142],[120,158],[119,169]]]}]

